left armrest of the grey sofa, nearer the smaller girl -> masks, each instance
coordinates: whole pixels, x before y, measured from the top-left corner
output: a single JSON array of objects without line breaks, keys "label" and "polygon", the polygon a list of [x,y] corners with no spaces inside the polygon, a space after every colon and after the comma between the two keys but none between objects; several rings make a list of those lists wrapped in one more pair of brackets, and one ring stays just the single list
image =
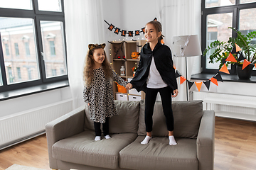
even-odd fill
[{"label": "left armrest of the grey sofa, nearer the smaller girl", "polygon": [[48,145],[50,168],[57,169],[57,162],[53,158],[52,147],[55,142],[84,131],[85,106],[67,113],[46,124],[46,137]]}]

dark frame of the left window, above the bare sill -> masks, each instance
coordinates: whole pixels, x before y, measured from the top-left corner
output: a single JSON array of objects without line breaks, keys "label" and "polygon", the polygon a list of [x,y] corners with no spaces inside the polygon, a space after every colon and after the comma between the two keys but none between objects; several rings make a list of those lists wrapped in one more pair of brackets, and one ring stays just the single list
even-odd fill
[{"label": "dark frame of the left window, above the bare sill", "polygon": [[[8,92],[17,89],[24,89],[32,86],[41,86],[50,83],[56,83],[59,81],[68,81],[68,64],[67,64],[67,46],[66,46],[66,38],[65,38],[65,16],[64,16],[64,1],[61,0],[61,12],[53,12],[53,11],[39,11],[38,10],[38,2],[37,0],[31,0],[33,9],[25,10],[25,9],[14,9],[14,8],[0,8],[0,17],[10,17],[10,18],[31,18],[33,19],[33,25],[35,29],[35,43],[36,43],[36,51],[38,52],[38,74],[39,77],[36,80],[28,80],[23,82],[16,82],[14,84],[7,84],[7,75],[4,66],[4,45],[0,43],[0,67],[1,67],[1,76],[3,85],[0,86],[0,92]],[[41,57],[41,52],[43,52],[43,42],[41,38],[41,28],[40,21],[60,21],[63,22],[63,47],[64,47],[64,55],[65,55],[65,69],[67,70],[66,75],[61,75],[58,77],[50,77],[46,78],[46,69],[45,63],[43,61],[43,57]],[[0,33],[1,40],[1,33]]]}]

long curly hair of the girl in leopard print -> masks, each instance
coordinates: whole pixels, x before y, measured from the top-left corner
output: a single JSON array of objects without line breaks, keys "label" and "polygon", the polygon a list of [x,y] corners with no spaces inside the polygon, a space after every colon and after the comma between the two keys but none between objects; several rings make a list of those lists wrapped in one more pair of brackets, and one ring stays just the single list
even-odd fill
[{"label": "long curly hair of the girl in leopard print", "polygon": [[[85,81],[86,86],[90,86],[92,84],[92,66],[94,64],[93,61],[93,53],[96,49],[102,48],[101,45],[95,44],[95,48],[93,50],[88,50],[87,55],[85,57],[85,67],[83,69],[83,80]],[[103,48],[102,48],[103,49]],[[104,51],[105,60],[102,62],[102,67],[105,73],[106,79],[112,78],[112,67],[110,66],[110,62],[107,60],[106,52]]]}]

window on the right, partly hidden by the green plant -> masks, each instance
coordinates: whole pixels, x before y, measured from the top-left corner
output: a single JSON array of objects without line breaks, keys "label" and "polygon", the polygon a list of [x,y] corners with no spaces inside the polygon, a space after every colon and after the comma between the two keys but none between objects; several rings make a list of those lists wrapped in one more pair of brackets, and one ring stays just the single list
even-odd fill
[{"label": "window on the right, partly hidden by the green plant", "polygon": [[[255,0],[205,0],[202,1],[202,50],[214,40],[227,41],[236,33],[228,27],[238,28],[243,35],[256,30]],[[256,38],[252,40],[256,43]],[[211,50],[202,56],[203,73],[216,73],[220,63],[209,63]],[[230,74],[236,74],[235,65],[229,65]],[[255,68],[254,68],[255,70]],[[252,75],[256,74],[256,70]]]}]

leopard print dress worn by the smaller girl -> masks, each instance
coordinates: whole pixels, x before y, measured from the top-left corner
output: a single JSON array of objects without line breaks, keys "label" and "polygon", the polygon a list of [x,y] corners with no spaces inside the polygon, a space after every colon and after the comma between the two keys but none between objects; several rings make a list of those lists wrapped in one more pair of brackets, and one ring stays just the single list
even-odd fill
[{"label": "leopard print dress worn by the smaller girl", "polygon": [[[128,84],[114,70],[112,70],[112,79],[122,86]],[[105,118],[117,115],[111,82],[111,79],[105,79],[104,69],[100,67],[93,69],[92,84],[84,87],[83,98],[85,103],[90,104],[90,119],[94,122],[105,123]]]}]

